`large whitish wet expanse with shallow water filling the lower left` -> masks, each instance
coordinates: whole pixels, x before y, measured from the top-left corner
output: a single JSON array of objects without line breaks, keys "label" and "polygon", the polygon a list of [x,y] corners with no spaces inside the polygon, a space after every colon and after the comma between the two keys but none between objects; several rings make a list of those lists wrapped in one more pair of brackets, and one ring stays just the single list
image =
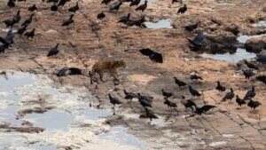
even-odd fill
[{"label": "large whitish wet expanse with shallow water filling the lower left", "polygon": [[1,127],[1,150],[145,149],[126,129],[104,123],[113,113],[90,107],[95,101],[86,88],[55,87],[47,76],[20,72],[1,75],[0,82],[0,125],[44,129],[22,133]]}]

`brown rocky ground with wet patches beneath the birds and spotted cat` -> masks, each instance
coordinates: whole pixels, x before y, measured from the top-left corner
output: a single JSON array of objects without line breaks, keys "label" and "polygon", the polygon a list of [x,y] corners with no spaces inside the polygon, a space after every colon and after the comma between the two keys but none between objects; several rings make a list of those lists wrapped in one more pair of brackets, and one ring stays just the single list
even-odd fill
[{"label": "brown rocky ground with wet patches beneath the birds and spotted cat", "polygon": [[[12,18],[18,10],[25,20],[30,15],[27,12],[30,2],[33,1],[10,10],[1,1],[1,21]],[[144,13],[123,4],[119,12],[106,12],[105,20],[97,20],[97,14],[109,7],[98,0],[84,0],[81,11],[74,16],[74,27],[70,28],[59,25],[69,17],[66,7],[74,2],[56,14],[48,11],[50,4],[42,4],[29,27],[36,28],[35,38],[26,41],[16,36],[12,47],[0,55],[0,70],[7,73],[0,78],[0,148],[264,150],[266,87],[254,78],[247,82],[241,72],[245,66],[237,65],[238,60],[249,59],[250,55],[245,54],[245,58],[239,55],[236,60],[228,60],[226,55],[223,60],[203,58],[190,51],[185,39],[199,32],[214,36],[218,42],[221,33],[226,33],[223,39],[231,37],[235,41],[240,35],[265,34],[263,25],[254,26],[254,22],[266,18],[263,1],[184,0],[184,3],[188,12],[183,15],[176,14],[181,4],[154,1]],[[148,22],[169,20],[170,26],[138,28],[117,22],[129,12],[134,20],[145,14]],[[184,30],[185,25],[199,20],[200,27],[192,33]],[[0,28],[0,36],[4,36],[4,24]],[[47,58],[47,51],[56,43],[60,43],[59,55]],[[152,63],[139,53],[143,48],[160,52],[164,63]],[[121,84],[113,85],[113,78],[108,75],[107,82],[99,83],[98,88],[90,84],[86,73],[103,59],[125,59],[128,68],[119,71]],[[265,65],[259,66],[260,73],[264,73]],[[56,74],[62,67],[79,67],[84,75],[59,79]],[[190,80],[194,71],[203,77],[201,83]],[[187,88],[177,88],[174,76],[202,93],[202,99],[194,99],[197,105],[211,104],[216,108],[203,116],[191,116],[179,99],[181,95],[190,99],[191,94]],[[241,98],[254,85],[254,100],[262,106],[252,113],[246,106],[239,108],[235,99],[221,103],[225,92],[215,91],[216,81],[221,81],[227,91],[232,87]],[[139,118],[145,113],[143,108],[137,99],[128,104],[123,99],[124,89],[153,96],[152,109],[159,119],[149,123],[148,119]],[[178,114],[163,105],[161,89],[174,92],[171,100],[176,102]],[[123,102],[116,115],[112,115],[109,92]]]}]

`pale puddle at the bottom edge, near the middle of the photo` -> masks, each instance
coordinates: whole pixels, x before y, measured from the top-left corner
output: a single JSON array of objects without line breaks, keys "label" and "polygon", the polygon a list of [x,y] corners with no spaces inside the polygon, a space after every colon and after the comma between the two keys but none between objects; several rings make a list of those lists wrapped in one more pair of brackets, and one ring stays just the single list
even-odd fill
[{"label": "pale puddle at the bottom edge, near the middle of the photo", "polygon": [[125,146],[135,146],[137,149],[144,150],[145,143],[143,143],[138,138],[126,133],[121,127],[113,127],[106,133],[98,135],[98,138],[112,140],[115,143]]}]

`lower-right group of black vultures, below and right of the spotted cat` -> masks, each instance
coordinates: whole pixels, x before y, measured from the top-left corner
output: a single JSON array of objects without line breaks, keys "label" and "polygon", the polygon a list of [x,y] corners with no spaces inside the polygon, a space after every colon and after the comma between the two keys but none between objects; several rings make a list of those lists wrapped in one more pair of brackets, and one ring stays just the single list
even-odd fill
[{"label": "lower-right group of black vultures, below and right of the spotted cat", "polygon": [[[195,77],[195,76],[197,76],[197,77]],[[190,76],[190,78],[191,78],[192,81],[199,80],[199,79],[203,80],[202,77],[200,75],[198,75],[197,73],[192,74]],[[178,86],[179,89],[183,88],[183,87],[188,87],[188,90],[189,90],[189,92],[192,95],[192,99],[185,99],[184,96],[181,96],[181,103],[184,105],[185,108],[191,108],[193,114],[201,115],[201,114],[206,113],[210,109],[216,107],[216,106],[213,106],[213,105],[204,105],[202,107],[198,107],[196,105],[196,103],[194,102],[194,97],[202,97],[202,94],[200,94],[199,91],[194,89],[192,87],[192,85],[189,85],[188,83],[184,83],[183,81],[177,79],[176,77],[174,77],[174,80],[175,80],[175,83],[176,83],[176,85]],[[223,86],[218,81],[217,82],[217,86],[215,87],[215,90],[219,91],[219,92],[223,92],[223,91],[226,91],[226,87]],[[230,90],[231,91],[227,92],[224,95],[224,97],[222,99],[222,102],[235,98],[235,93],[234,93],[233,89],[231,88]],[[129,91],[126,91],[126,90],[124,90],[124,94],[125,94],[124,99],[130,99],[130,100],[138,99],[139,104],[142,107],[144,107],[144,109],[145,109],[146,117],[150,118],[150,121],[152,121],[152,119],[157,119],[158,118],[158,116],[155,115],[152,110],[147,108],[147,107],[153,107],[153,97],[142,95],[140,93],[136,94],[134,92],[129,92]],[[122,104],[120,99],[117,99],[117,98],[113,97],[110,93],[108,95],[109,95],[110,103],[113,104],[113,109],[114,109],[115,105]],[[161,95],[164,98],[163,104],[167,105],[168,108],[174,109],[177,112],[177,110],[176,110],[177,104],[175,102],[169,100],[169,98],[173,97],[174,94],[172,92],[165,91],[165,90],[162,89],[161,90]],[[250,107],[251,109],[254,110],[256,107],[259,107],[259,106],[262,105],[262,103],[260,103],[259,101],[254,101],[253,100],[255,95],[256,95],[256,93],[255,93],[255,89],[254,89],[254,86],[253,86],[251,90],[246,91],[246,94],[245,94],[243,99],[239,98],[239,95],[236,95],[236,99],[235,100],[236,100],[236,103],[239,105],[239,107],[242,107],[242,105],[247,104],[247,107]],[[114,114],[115,114],[115,111],[114,111]]]}]

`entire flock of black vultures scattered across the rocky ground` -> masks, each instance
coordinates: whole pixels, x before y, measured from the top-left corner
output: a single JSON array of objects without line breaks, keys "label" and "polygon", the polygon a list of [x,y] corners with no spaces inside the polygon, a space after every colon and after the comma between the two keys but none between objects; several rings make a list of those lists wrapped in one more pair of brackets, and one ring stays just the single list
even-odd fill
[{"label": "entire flock of black vultures scattered across the rocky ground", "polygon": [[[7,5],[10,8],[12,8],[12,7],[15,7],[16,3],[20,3],[22,1],[26,2],[26,0],[8,0]],[[51,8],[50,8],[51,12],[58,12],[59,8],[63,7],[69,1],[70,0],[42,0],[43,3],[52,3]],[[62,27],[70,26],[70,25],[74,24],[74,13],[80,9],[79,8],[79,2],[80,2],[80,0],[77,1],[73,7],[70,7],[67,9],[67,11],[72,12],[72,14],[68,18],[68,20],[64,20],[62,22],[62,24],[61,24]],[[123,1],[119,0],[118,2],[114,2],[113,4],[109,5],[109,11],[110,12],[115,11],[115,10],[118,11],[121,7],[121,4],[130,3],[129,4],[130,7],[135,6],[135,5],[137,6],[135,11],[145,12],[145,9],[147,8],[148,2],[147,2],[147,0],[145,0],[145,4],[139,5],[140,2],[141,2],[141,0],[123,0]],[[102,4],[109,4],[109,3],[111,3],[111,0],[103,0],[102,1]],[[172,4],[174,4],[174,3],[182,3],[182,0],[173,0]],[[0,52],[4,52],[10,46],[12,46],[13,38],[15,35],[21,36],[24,34],[24,36],[27,39],[35,37],[35,28],[32,28],[30,30],[27,30],[27,28],[32,23],[33,17],[35,15],[34,12],[36,10],[38,10],[38,8],[36,7],[35,4],[33,4],[33,5],[29,6],[27,10],[29,12],[32,12],[32,14],[29,17],[27,17],[27,19],[21,23],[21,25],[18,27],[17,32],[13,32],[12,28],[14,27],[14,25],[20,24],[20,20],[21,20],[20,11],[18,11],[17,14],[12,17],[12,19],[3,21],[5,26],[7,28],[11,28],[11,29],[7,32],[6,36],[0,37],[0,43],[2,43],[2,45],[0,46]],[[186,11],[187,11],[187,6],[186,6],[186,4],[184,4],[184,6],[179,8],[177,13],[184,13]],[[118,20],[118,22],[123,23],[127,26],[138,26],[138,27],[142,26],[143,23],[145,22],[145,15],[143,15],[138,20],[130,20],[130,15],[131,14],[128,13],[126,16],[122,16]],[[105,17],[106,17],[105,11],[102,11],[102,12],[98,13],[98,15],[97,15],[98,20],[104,20]],[[200,24],[200,21],[195,23],[195,24],[185,26],[184,28],[187,31],[192,32],[195,28],[198,28],[199,24]],[[204,39],[203,33],[199,33],[197,36],[195,36],[194,39],[187,38],[188,42],[190,43],[191,49],[201,49],[203,39]],[[59,43],[57,43],[55,45],[55,47],[51,48],[51,50],[48,51],[47,57],[57,55],[59,53],[58,48],[59,48]],[[148,56],[153,62],[163,63],[163,57],[159,52],[153,51],[149,48],[142,49],[142,50],[140,50],[140,52],[143,55]],[[257,60],[264,64],[264,63],[266,63],[266,56],[258,55]],[[243,74],[245,75],[246,79],[249,80],[250,77],[255,75],[254,72],[252,71],[252,69],[259,70],[259,67],[257,67],[256,65],[254,65],[253,63],[248,62],[248,61],[245,61],[245,64],[246,64],[246,67],[248,67],[250,69],[246,69],[246,70],[242,70],[242,71],[243,71]],[[58,76],[66,76],[66,75],[82,75],[82,70],[79,68],[76,68],[76,67],[63,67],[59,71]],[[266,76],[265,75],[257,76],[256,78],[257,78],[257,80],[266,84]],[[200,75],[198,75],[197,73],[192,74],[190,76],[190,79],[192,81],[203,80],[202,77]],[[204,105],[202,107],[198,107],[193,102],[193,98],[194,97],[201,97],[202,94],[200,94],[199,91],[194,89],[192,87],[192,85],[185,83],[182,80],[179,80],[177,77],[174,77],[174,81],[175,81],[175,83],[179,89],[183,88],[183,87],[188,87],[188,90],[192,95],[192,99],[185,99],[184,96],[181,96],[181,99],[182,99],[182,104],[184,105],[184,107],[185,108],[191,108],[193,114],[201,115],[203,113],[206,113],[208,110],[215,108],[215,106],[212,106],[212,105]],[[221,91],[221,92],[226,91],[226,88],[219,81],[217,82],[217,86],[215,89],[217,91]],[[124,91],[124,94],[125,94],[124,99],[131,99],[131,100],[132,99],[138,99],[139,104],[142,107],[144,107],[144,109],[145,109],[146,117],[150,118],[151,121],[152,121],[152,119],[158,118],[158,116],[156,114],[154,114],[151,109],[148,108],[148,107],[153,106],[153,97],[146,96],[146,95],[143,95],[140,93],[136,94],[136,93],[129,92],[129,91]],[[161,94],[164,98],[163,104],[167,105],[168,108],[174,109],[176,111],[176,108],[177,108],[176,103],[170,100],[170,98],[173,97],[173,93],[165,91],[165,90],[161,90]],[[254,86],[253,86],[250,91],[246,92],[244,99],[241,99],[241,98],[239,98],[239,95],[236,95],[236,102],[239,104],[239,107],[241,107],[242,105],[246,104],[246,100],[249,100],[247,102],[247,106],[251,107],[252,109],[255,109],[256,107],[259,107],[260,105],[262,105],[260,102],[253,100],[255,95],[256,95],[256,93],[255,93]],[[115,106],[122,104],[122,102],[120,99],[115,98],[110,93],[108,94],[108,97],[110,99],[110,103],[113,104],[113,111],[114,111],[113,114],[115,114]],[[225,94],[222,101],[231,100],[234,97],[235,97],[235,93],[234,93],[233,89],[231,88],[231,91]]]}]

